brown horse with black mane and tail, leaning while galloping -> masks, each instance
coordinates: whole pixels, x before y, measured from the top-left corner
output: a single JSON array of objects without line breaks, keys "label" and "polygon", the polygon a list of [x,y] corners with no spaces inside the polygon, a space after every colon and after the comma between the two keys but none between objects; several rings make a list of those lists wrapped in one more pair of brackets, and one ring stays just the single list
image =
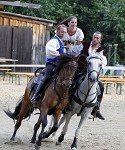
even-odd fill
[{"label": "brown horse with black mane and tail, leaning while galloping", "polygon": [[[40,115],[37,123],[34,126],[34,133],[31,139],[31,143],[33,144],[36,142],[36,133],[42,123],[42,129],[35,145],[36,149],[41,146],[44,129],[47,125],[48,114],[53,115],[54,117],[54,124],[50,134],[58,129],[58,121],[61,117],[62,111],[68,103],[69,88],[73,82],[75,71],[77,69],[77,61],[71,55],[63,54],[59,56],[58,62],[59,63],[56,68],[56,72],[58,72],[57,76],[55,76],[48,87],[46,87],[44,95],[40,97],[41,101],[36,105],[36,108],[40,110]],[[34,81],[36,81],[36,78],[37,77],[33,77],[27,84],[25,93],[15,107],[15,111],[12,113],[9,109],[4,110],[10,118],[17,120],[11,140],[14,140],[22,120],[29,117],[34,110],[34,107],[31,103],[31,98],[34,91],[33,89],[35,86],[33,85]]]}]

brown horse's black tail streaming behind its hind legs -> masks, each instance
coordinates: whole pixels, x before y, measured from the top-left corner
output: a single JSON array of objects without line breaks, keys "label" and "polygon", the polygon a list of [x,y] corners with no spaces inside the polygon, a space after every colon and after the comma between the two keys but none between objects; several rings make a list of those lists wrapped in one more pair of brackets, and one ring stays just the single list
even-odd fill
[{"label": "brown horse's black tail streaming behind its hind legs", "polygon": [[[17,102],[14,112],[11,112],[9,108],[7,110],[4,110],[4,112],[6,113],[6,115],[8,117],[10,117],[13,120],[17,120],[18,119],[18,115],[19,115],[21,107],[22,107],[22,100],[23,100],[23,98],[24,98],[24,95],[22,97],[20,97],[19,101]],[[30,118],[30,116],[33,113],[33,111],[34,111],[33,107],[29,108],[23,119],[26,119],[27,117]]]}]

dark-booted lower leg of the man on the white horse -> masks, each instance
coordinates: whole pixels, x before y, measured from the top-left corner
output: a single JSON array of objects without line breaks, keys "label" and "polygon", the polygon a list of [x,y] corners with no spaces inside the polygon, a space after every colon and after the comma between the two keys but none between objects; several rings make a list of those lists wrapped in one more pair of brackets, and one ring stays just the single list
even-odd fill
[{"label": "dark-booted lower leg of the man on the white horse", "polygon": [[95,117],[97,117],[101,120],[105,120],[105,118],[102,116],[102,114],[100,112],[100,104],[101,104],[103,93],[104,93],[104,86],[103,86],[101,81],[98,84],[99,84],[99,87],[100,87],[101,94],[98,95],[98,97],[97,97],[98,104],[97,104],[97,106],[95,106],[93,108],[93,110],[91,112],[91,115],[93,115],[93,116],[95,116]]}]

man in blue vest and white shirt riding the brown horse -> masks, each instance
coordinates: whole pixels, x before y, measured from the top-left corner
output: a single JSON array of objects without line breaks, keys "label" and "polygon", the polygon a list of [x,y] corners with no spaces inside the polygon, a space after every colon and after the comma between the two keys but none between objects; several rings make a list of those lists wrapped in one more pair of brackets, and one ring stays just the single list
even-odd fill
[{"label": "man in blue vest and white shirt riding the brown horse", "polygon": [[35,90],[35,93],[31,99],[33,104],[37,104],[40,96],[40,91],[44,88],[46,82],[52,77],[53,69],[57,65],[57,56],[65,53],[64,43],[62,38],[67,32],[65,25],[59,25],[56,29],[56,34],[46,44],[46,67],[44,69],[44,76],[41,75],[39,84]]}]

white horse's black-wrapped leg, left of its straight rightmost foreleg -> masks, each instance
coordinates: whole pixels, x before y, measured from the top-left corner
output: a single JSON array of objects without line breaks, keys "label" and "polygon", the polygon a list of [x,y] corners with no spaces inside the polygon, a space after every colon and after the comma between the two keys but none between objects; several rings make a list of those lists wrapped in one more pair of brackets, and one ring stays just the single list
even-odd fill
[{"label": "white horse's black-wrapped leg, left of its straight rightmost foreleg", "polygon": [[61,135],[58,137],[58,141],[56,142],[57,145],[60,145],[61,142],[63,142],[64,140],[64,136],[68,130],[68,124],[70,122],[70,119],[72,117],[72,112],[68,112],[67,114],[65,114],[61,120],[61,123],[63,123],[63,121],[65,121],[65,124],[63,126],[63,129],[62,129],[62,132],[61,132]]}]

